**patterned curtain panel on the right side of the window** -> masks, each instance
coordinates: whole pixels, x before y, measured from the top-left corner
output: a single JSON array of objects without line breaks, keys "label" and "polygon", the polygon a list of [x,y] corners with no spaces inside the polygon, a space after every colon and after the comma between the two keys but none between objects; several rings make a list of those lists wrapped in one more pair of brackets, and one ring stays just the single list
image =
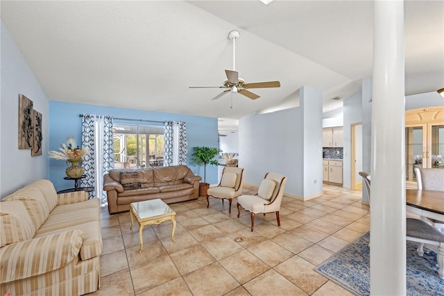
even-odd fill
[{"label": "patterned curtain panel on the right side of the window", "polygon": [[187,126],[185,122],[165,122],[164,166],[187,164]]}]

